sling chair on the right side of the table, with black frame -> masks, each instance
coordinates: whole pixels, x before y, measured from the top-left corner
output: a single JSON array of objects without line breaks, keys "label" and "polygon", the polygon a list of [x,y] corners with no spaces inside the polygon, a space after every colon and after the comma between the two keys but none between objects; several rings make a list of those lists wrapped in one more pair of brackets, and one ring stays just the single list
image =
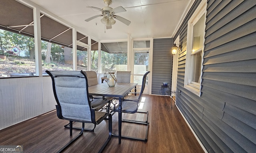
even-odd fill
[{"label": "sling chair on the right side of the table, with black frame", "polygon": [[[124,120],[124,119],[122,119],[122,122],[132,122],[132,123],[136,123],[136,124],[145,124],[145,125],[147,125],[146,137],[145,137],[145,139],[141,139],[141,138],[137,138],[137,137],[122,136],[124,138],[140,140],[140,141],[148,141],[148,125],[149,125],[149,123],[148,123],[148,112],[139,112],[138,111],[140,102],[142,100],[142,94],[143,94],[143,91],[144,91],[144,88],[145,88],[145,85],[146,85],[146,77],[147,77],[148,73],[150,73],[150,71],[146,72],[143,75],[143,78],[142,78],[142,89],[140,91],[140,95],[136,96],[137,99],[136,100],[125,100],[125,99],[123,99],[123,101],[122,101],[122,113],[130,113],[130,114],[144,113],[144,114],[146,114],[146,121]],[[114,112],[114,113],[118,112],[118,105],[111,111],[111,113],[112,112]],[[116,134],[113,134],[113,135],[118,136]]]}]

